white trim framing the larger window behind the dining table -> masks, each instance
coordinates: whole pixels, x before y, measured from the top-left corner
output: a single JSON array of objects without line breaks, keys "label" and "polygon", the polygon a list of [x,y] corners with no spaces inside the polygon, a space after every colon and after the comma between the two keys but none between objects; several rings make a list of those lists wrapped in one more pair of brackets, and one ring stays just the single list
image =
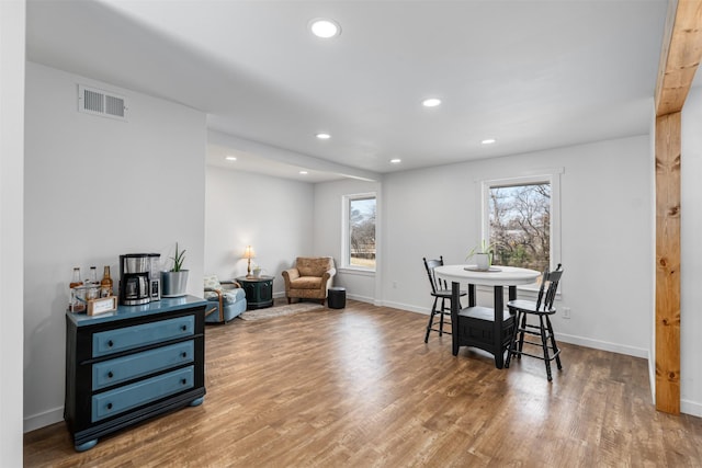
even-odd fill
[{"label": "white trim framing the larger window behind the dining table", "polygon": [[[480,231],[478,239],[487,239],[490,230],[489,221],[489,197],[490,187],[495,185],[526,185],[531,183],[548,182],[551,184],[551,265],[554,270],[561,262],[561,174],[564,168],[554,168],[534,173],[514,175],[501,179],[486,179],[479,181],[478,198],[480,209],[478,210],[478,221]],[[535,285],[519,286],[522,290],[539,290]],[[558,288],[561,289],[561,288]]]}]

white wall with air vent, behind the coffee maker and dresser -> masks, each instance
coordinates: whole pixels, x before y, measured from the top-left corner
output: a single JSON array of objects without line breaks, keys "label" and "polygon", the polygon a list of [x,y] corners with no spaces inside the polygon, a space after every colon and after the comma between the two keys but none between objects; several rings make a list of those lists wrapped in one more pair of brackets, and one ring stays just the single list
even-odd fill
[{"label": "white wall with air vent, behind the coffee maker and dresser", "polygon": [[[78,83],[126,96],[128,122],[77,112]],[[205,115],[27,62],[24,429],[63,420],[65,308],[72,266],[186,249],[202,295]],[[170,265],[166,265],[170,266]]]}]

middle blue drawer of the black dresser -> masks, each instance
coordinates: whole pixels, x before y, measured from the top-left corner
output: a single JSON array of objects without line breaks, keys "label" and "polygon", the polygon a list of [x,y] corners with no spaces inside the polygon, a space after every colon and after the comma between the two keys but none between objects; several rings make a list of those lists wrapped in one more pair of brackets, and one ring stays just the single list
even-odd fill
[{"label": "middle blue drawer of the black dresser", "polygon": [[94,364],[92,366],[92,389],[100,390],[180,364],[192,363],[194,352],[195,345],[191,340]]}]

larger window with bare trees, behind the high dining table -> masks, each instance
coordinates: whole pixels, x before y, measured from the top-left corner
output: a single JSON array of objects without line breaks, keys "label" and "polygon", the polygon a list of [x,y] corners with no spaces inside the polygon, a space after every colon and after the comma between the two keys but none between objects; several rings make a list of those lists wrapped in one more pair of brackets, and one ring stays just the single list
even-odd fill
[{"label": "larger window with bare trees, behind the high dining table", "polygon": [[559,171],[483,182],[483,239],[492,263],[536,271],[561,259]]}]

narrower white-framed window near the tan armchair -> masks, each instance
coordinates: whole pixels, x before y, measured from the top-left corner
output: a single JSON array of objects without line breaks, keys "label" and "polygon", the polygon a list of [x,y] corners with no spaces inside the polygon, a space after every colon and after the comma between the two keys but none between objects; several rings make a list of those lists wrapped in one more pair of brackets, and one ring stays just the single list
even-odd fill
[{"label": "narrower white-framed window near the tan armchair", "polygon": [[375,194],[344,196],[344,267],[375,271]]}]

